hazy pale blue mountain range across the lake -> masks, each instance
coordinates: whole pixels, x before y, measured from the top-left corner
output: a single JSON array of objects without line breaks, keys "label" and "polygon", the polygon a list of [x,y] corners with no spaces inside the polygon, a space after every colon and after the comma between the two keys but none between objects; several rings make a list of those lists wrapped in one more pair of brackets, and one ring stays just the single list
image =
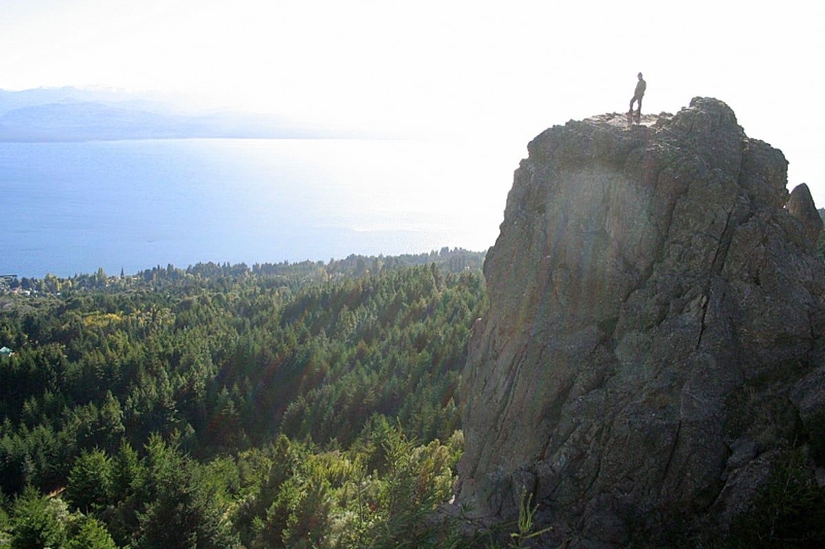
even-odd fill
[{"label": "hazy pale blue mountain range across the lake", "polygon": [[276,115],[186,113],[160,96],[73,87],[0,90],[0,142],[342,137],[354,136]]}]

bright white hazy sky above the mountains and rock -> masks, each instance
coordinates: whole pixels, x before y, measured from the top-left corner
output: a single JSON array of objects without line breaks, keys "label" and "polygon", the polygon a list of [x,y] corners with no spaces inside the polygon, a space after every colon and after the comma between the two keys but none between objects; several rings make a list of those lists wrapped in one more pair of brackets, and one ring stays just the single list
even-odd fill
[{"label": "bright white hazy sky above the mountains and rock", "polygon": [[825,206],[823,22],[809,1],[0,0],[0,88],[168,90],[500,143],[509,188],[530,138],[626,109],[642,71],[644,111],[727,102]]}]

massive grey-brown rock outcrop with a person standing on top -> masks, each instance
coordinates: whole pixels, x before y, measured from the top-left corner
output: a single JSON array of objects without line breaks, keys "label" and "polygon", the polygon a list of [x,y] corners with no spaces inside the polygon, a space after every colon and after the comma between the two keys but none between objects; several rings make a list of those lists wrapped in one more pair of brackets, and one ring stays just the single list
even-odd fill
[{"label": "massive grey-brown rock outcrop with a person standing on top", "polygon": [[547,129],[516,171],[464,371],[457,502],[569,547],[727,528],[823,410],[822,222],[723,102]]}]

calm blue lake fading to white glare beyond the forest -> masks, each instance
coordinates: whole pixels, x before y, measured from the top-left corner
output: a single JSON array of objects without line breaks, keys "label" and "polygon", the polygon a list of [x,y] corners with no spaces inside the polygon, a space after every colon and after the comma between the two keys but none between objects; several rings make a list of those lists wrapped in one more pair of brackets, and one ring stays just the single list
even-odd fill
[{"label": "calm blue lake fading to white glare beyond the forest", "polygon": [[484,158],[409,141],[0,143],[0,275],[483,250],[515,167]]}]

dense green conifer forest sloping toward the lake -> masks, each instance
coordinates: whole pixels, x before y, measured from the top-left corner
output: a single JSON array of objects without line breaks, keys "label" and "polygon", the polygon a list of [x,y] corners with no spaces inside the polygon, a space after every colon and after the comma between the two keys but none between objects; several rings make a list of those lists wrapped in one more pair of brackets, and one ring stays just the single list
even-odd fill
[{"label": "dense green conifer forest sloping toward the lake", "polygon": [[0,282],[0,543],[397,547],[450,497],[483,254]]}]

